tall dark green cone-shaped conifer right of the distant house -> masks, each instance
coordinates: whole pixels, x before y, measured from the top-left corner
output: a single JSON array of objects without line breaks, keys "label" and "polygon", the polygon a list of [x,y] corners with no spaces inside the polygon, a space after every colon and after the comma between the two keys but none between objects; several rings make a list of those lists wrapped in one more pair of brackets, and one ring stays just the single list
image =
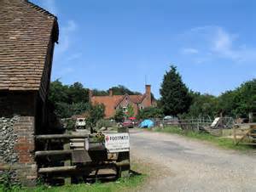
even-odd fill
[{"label": "tall dark green cone-shaped conifer right of the distant house", "polygon": [[160,88],[161,107],[165,115],[177,116],[189,110],[191,97],[175,66],[166,71]]}]

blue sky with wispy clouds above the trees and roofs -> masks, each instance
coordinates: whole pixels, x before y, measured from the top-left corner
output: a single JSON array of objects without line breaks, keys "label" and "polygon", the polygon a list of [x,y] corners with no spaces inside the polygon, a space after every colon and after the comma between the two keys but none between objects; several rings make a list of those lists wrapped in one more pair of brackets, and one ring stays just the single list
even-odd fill
[{"label": "blue sky with wispy clouds above the trees and roofs", "polygon": [[256,77],[254,0],[31,0],[58,18],[51,80],[125,85],[160,98],[176,65],[189,89],[219,95]]}]

